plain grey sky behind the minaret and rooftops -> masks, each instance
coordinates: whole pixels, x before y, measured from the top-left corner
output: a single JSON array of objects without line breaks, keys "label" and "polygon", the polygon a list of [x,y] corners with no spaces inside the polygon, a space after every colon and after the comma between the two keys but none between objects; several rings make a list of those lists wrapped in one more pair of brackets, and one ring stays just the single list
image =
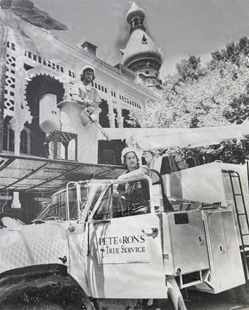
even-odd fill
[{"label": "plain grey sky behind the minaret and rooftops", "polygon": [[[61,40],[80,46],[90,41],[97,56],[115,66],[121,62],[129,25],[128,0],[32,0],[39,9],[68,26],[51,31]],[[174,73],[176,63],[189,55],[203,64],[211,51],[249,36],[248,0],[137,0],[146,14],[144,26],[164,53],[161,78]]]}]

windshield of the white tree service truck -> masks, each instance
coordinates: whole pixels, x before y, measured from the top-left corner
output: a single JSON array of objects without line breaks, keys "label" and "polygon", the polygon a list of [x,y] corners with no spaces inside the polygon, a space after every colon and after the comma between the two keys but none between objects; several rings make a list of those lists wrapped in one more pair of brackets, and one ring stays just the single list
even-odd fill
[{"label": "windshield of the white tree service truck", "polygon": [[[88,186],[86,184],[80,186],[80,193],[82,202],[80,204],[80,210],[82,211],[85,207],[85,203],[83,202],[88,200]],[[42,219],[43,221],[50,219],[67,219],[67,200],[69,202],[69,220],[78,219],[78,200],[75,184],[70,185],[68,188],[68,195],[66,190],[57,192],[53,195],[46,209],[41,212],[37,219]]]}]

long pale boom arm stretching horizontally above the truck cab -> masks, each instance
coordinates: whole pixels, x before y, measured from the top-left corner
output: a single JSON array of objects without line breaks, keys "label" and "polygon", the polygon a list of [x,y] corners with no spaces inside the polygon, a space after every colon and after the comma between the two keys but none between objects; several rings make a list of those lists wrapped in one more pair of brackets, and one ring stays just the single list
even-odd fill
[{"label": "long pale boom arm stretching horizontally above the truck cab", "polygon": [[[197,148],[249,137],[249,121],[241,125],[202,128],[105,128],[111,140],[126,140],[139,150]],[[102,137],[99,137],[101,140]]]}]

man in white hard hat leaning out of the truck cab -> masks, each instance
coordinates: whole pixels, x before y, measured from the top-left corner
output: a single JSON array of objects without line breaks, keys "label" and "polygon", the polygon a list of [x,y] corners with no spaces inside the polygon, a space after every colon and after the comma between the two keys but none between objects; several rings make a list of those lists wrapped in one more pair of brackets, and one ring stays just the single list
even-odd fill
[{"label": "man in white hard hat leaning out of the truck cab", "polygon": [[[134,148],[124,148],[121,155],[122,164],[127,171],[118,177],[118,180],[126,181],[130,178],[149,175],[149,168],[146,165],[139,167],[139,156]],[[115,196],[125,200],[127,215],[141,215],[150,213],[149,184],[147,180],[134,180],[122,183],[117,186]]]}]

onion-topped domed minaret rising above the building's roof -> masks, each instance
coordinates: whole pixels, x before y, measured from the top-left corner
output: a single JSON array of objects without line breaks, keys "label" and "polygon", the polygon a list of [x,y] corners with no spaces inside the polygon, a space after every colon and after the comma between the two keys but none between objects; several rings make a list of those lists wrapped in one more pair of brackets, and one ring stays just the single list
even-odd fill
[{"label": "onion-topped domed minaret rising above the building's roof", "polygon": [[157,47],[144,28],[145,13],[137,4],[126,14],[130,25],[130,37],[122,50],[122,65],[137,73],[137,81],[154,87],[159,84],[159,69],[163,61],[161,49]]}]

